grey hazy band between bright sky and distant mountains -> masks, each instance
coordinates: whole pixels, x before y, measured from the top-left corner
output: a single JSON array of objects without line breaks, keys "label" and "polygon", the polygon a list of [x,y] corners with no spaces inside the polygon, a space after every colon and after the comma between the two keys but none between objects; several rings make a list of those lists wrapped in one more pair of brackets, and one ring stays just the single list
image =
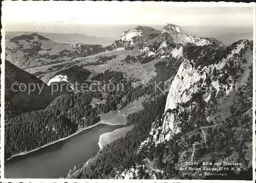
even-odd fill
[{"label": "grey hazy band between bright sky and distant mountains", "polygon": [[[57,24],[57,25],[56,25]],[[20,26],[19,26],[20,25]],[[27,25],[27,26],[26,26]],[[31,26],[32,25],[32,26]],[[147,27],[152,27],[158,31],[162,31],[164,25],[144,24]],[[92,24],[92,23],[72,23],[70,24],[58,24],[58,23],[20,23],[10,24],[10,27],[6,26],[6,33],[43,33],[43,34],[59,34],[59,35],[81,35],[94,38],[105,38],[110,40],[116,40],[122,36],[122,33],[127,30],[136,28],[137,26],[143,26],[143,24]],[[191,26],[179,25],[181,29],[190,35],[196,37],[210,37],[215,38],[225,45],[229,45],[239,39],[253,39],[253,27],[251,26]],[[200,28],[200,29],[199,29]],[[42,35],[44,36],[44,35]]]}]

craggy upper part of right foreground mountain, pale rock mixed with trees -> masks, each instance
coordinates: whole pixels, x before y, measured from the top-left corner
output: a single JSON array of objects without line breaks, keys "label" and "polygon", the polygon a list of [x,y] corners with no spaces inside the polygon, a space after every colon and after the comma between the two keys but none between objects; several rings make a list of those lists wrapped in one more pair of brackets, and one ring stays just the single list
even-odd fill
[{"label": "craggy upper part of right foreground mountain, pale rock mixed with trees", "polygon": [[[252,63],[252,57],[245,53],[247,50],[249,51],[251,46],[251,42],[246,39],[239,40],[225,49],[212,49],[210,46],[204,46],[205,48],[202,50],[205,54],[201,55],[200,60],[189,57],[183,59],[170,85],[163,124],[159,128],[159,132],[157,132],[157,128],[153,129],[154,132],[157,132],[156,134],[160,134],[159,136],[154,136],[156,142],[169,140],[174,134],[180,132],[180,124],[189,120],[180,119],[177,116],[185,113],[191,114],[192,108],[199,108],[197,104],[200,103],[195,98],[202,94],[200,92],[203,87],[211,88],[215,91],[206,90],[201,95],[202,101],[206,105],[207,103],[214,103],[215,99],[229,97],[229,94],[234,92],[233,86],[236,85],[234,81],[238,77],[247,79],[249,72],[247,72],[246,76],[243,75],[244,71],[240,71],[238,65],[244,64],[244,68],[249,68],[249,65]],[[195,52],[184,51],[183,54],[194,55]],[[212,57],[210,58],[208,55],[212,55]],[[207,60],[203,57],[207,58]],[[205,60],[205,63],[202,63],[202,60]],[[248,60],[248,64],[245,64],[247,63],[245,60]],[[209,118],[210,115],[207,119]],[[156,137],[159,137],[159,139]]]}]

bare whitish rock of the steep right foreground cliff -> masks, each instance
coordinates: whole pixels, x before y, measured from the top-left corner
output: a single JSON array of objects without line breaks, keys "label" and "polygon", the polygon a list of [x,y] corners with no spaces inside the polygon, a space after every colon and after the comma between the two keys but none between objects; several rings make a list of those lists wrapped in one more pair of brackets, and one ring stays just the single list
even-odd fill
[{"label": "bare whitish rock of the steep right foreground cliff", "polygon": [[[184,59],[182,64],[179,67],[179,70],[170,85],[169,93],[167,96],[166,104],[165,104],[165,116],[163,119],[163,124],[158,125],[155,121],[152,124],[152,129],[150,135],[153,137],[155,144],[161,143],[164,140],[169,140],[172,138],[173,134],[180,132],[180,127],[178,124],[180,121],[177,118],[177,115],[182,113],[186,108],[180,106],[181,103],[186,103],[189,101],[193,94],[197,93],[199,89],[205,84],[206,75],[210,75],[211,79],[211,86],[217,90],[216,95],[220,90],[220,84],[218,78],[216,81],[213,81],[212,78],[214,77],[212,72],[214,68],[217,69],[218,72],[228,64],[228,61],[233,58],[234,54],[239,54],[240,50],[244,47],[244,43],[240,43],[231,51],[226,58],[223,58],[218,63],[204,66],[203,68],[198,67],[195,68],[193,65],[193,61],[189,61],[188,59]],[[200,82],[202,83],[200,83]],[[232,89],[232,83],[229,84],[231,87],[222,85],[226,89],[226,94],[229,94],[230,90]],[[206,97],[207,96],[207,97]],[[208,91],[205,94],[204,100],[208,102],[211,97],[211,92]],[[194,103],[195,104],[195,103]],[[178,108],[179,106],[179,108]],[[176,112],[169,112],[169,110],[178,109]],[[150,139],[146,139],[141,145],[143,146]]]}]

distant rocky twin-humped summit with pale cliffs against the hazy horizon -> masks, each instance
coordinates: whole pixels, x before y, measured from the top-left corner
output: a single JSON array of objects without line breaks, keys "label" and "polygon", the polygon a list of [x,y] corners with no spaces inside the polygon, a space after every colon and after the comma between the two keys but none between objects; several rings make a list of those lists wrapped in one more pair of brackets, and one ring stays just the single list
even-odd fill
[{"label": "distant rocky twin-humped summit with pale cliffs against the hazy horizon", "polygon": [[215,38],[196,37],[185,33],[179,25],[167,23],[162,31],[158,31],[152,27],[142,26],[124,31],[123,35],[117,38],[112,45],[106,47],[106,49],[131,50],[136,47],[141,50],[144,49],[143,47],[155,44],[154,42],[163,42],[166,40],[169,40],[168,44],[176,45],[192,44],[195,46],[215,45],[217,47],[225,47],[223,43]]}]

